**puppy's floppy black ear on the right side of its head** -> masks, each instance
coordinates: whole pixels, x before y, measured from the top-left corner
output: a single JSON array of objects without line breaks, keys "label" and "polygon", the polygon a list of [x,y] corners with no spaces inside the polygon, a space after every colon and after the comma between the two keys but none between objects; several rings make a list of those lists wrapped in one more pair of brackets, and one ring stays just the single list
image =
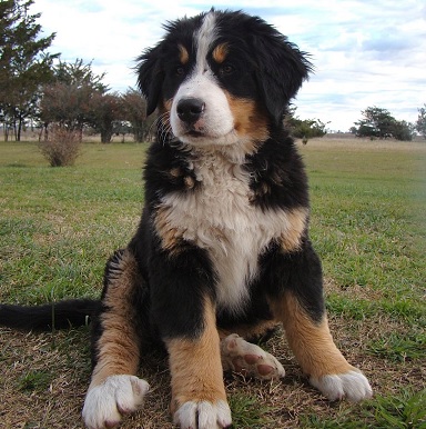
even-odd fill
[{"label": "puppy's floppy black ear on the right side of its head", "polygon": [[308,54],[288,42],[272,27],[253,38],[256,79],[265,107],[276,123],[282,121],[290,100],[308,78],[313,67]]}]

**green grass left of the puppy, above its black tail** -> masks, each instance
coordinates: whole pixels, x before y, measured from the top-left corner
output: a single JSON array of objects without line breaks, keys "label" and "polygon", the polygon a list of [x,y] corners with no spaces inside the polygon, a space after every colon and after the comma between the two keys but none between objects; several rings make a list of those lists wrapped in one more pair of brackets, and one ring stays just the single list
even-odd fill
[{"label": "green grass left of the puppy, above its black tail", "polygon": [[50,168],[33,144],[0,144],[0,297],[98,295],[105,259],[136,227],[144,146],[88,144],[75,168]]}]

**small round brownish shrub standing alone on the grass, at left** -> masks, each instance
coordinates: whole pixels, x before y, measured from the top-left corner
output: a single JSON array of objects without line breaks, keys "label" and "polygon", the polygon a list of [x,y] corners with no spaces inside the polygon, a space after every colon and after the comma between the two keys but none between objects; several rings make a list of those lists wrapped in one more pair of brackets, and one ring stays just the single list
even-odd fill
[{"label": "small round brownish shrub standing alone on the grass, at left", "polygon": [[51,167],[72,166],[80,154],[81,136],[79,131],[54,126],[39,148]]}]

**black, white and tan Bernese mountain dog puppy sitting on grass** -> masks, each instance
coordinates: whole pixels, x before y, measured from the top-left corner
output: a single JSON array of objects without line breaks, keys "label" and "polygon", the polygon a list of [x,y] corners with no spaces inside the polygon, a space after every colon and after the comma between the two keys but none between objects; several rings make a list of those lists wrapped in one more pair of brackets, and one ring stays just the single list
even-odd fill
[{"label": "black, white and tan Bernese mountain dog puppy sitting on grass", "polygon": [[[111,428],[138,409],[149,390],[135,376],[141,350],[161,339],[174,422],[229,427],[224,370],[284,375],[246,341],[275,323],[329,400],[371,397],[328,330],[307,180],[283,124],[311,71],[307,54],[240,11],[212,9],[165,29],[139,59],[148,114],[159,113],[139,229],[108,262],[101,301],[54,305],[57,328],[93,319],[85,425]],[[2,306],[0,323],[42,328],[50,315],[50,306]]]}]

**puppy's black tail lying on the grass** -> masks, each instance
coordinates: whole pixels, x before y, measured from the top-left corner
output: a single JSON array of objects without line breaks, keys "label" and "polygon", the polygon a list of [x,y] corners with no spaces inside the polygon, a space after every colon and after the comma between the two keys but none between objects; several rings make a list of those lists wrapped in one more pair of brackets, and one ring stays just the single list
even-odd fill
[{"label": "puppy's black tail lying on the grass", "polygon": [[43,306],[0,305],[0,326],[23,330],[54,330],[88,325],[101,308],[100,300],[70,299]]}]

